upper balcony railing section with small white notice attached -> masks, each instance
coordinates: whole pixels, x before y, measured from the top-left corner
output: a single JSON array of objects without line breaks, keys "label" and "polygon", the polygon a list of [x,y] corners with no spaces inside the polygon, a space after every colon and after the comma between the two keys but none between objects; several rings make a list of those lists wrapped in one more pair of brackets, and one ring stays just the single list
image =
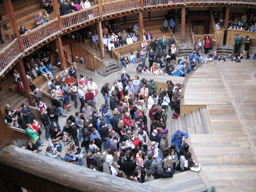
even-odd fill
[{"label": "upper balcony railing section with small white notice attached", "polygon": [[73,12],[67,15],[61,16],[61,24],[63,29],[72,28],[88,22],[89,20],[99,18],[99,5],[95,5],[91,8],[81,10],[79,12]]}]

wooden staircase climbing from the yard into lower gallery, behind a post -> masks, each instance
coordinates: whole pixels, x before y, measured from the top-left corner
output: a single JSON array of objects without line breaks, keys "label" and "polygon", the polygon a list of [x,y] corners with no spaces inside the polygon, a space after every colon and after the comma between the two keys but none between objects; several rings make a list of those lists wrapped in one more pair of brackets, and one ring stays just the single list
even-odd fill
[{"label": "wooden staircase climbing from the yard into lower gallery, behind a post", "polygon": [[[95,48],[92,47],[92,40],[85,40],[84,42],[80,43],[84,49],[86,49],[87,51],[91,52],[92,54],[95,54],[95,56],[97,56],[97,58],[100,58],[100,51],[99,49],[96,51]],[[105,72],[106,72],[106,76],[108,76],[109,74],[116,72],[118,70],[120,70],[118,68],[118,65],[120,65],[120,63],[116,63],[115,60],[113,60],[110,56],[110,54],[106,53],[104,56],[104,60],[105,60]],[[100,74],[100,72],[99,72]],[[101,74],[103,75],[103,74]]]}]

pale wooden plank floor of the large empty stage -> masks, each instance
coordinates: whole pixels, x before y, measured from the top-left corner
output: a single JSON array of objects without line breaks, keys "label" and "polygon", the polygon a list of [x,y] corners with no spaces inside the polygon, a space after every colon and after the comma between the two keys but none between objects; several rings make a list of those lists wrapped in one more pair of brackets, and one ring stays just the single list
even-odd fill
[{"label": "pale wooden plank floor of the large empty stage", "polygon": [[256,191],[255,60],[205,63],[189,77],[184,104],[206,104],[214,134],[190,134],[217,191]]}]

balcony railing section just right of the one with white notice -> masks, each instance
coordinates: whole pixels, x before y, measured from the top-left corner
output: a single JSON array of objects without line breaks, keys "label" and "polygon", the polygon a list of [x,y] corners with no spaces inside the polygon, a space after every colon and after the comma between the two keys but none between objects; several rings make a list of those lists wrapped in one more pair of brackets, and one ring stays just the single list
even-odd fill
[{"label": "balcony railing section just right of the one with white notice", "polygon": [[140,0],[112,1],[102,4],[102,14],[109,15],[113,13],[120,13],[140,7]]}]

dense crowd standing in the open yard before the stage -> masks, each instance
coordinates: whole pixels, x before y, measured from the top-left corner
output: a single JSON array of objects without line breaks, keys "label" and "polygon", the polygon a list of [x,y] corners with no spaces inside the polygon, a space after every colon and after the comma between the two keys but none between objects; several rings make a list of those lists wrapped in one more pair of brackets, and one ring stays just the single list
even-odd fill
[{"label": "dense crowd standing in the open yard before the stage", "polygon": [[[33,95],[42,124],[29,106],[22,104],[22,110],[17,111],[6,104],[6,122],[26,130],[30,138],[28,150],[42,151],[39,148],[44,145],[40,139],[44,127],[45,138],[49,141],[45,155],[60,161],[83,165],[82,159],[86,157],[87,167],[100,172],[104,171],[105,162],[111,175],[124,177],[125,173],[127,179],[141,183],[173,177],[176,168],[179,172],[200,171],[200,164],[191,159],[188,144],[184,142],[188,138],[186,132],[177,131],[172,141],[168,141],[168,108],[173,111],[172,118],[179,116],[182,84],[174,86],[172,81],[167,81],[168,88],[158,92],[154,79],[140,81],[139,76],[132,79],[123,71],[113,86],[108,82],[102,86],[100,93],[105,103],[97,109],[97,84],[83,75],[78,80],[74,74],[76,68],[71,67],[62,76],[49,78],[47,88],[51,92],[51,104],[45,104],[42,93],[36,88]],[[70,98],[77,108],[77,96],[80,111],[65,116],[63,110],[69,113],[68,108],[72,108]],[[16,115],[18,120],[15,120]],[[62,129],[59,116],[67,118]],[[62,145],[69,146],[65,156],[60,155]]]}]

